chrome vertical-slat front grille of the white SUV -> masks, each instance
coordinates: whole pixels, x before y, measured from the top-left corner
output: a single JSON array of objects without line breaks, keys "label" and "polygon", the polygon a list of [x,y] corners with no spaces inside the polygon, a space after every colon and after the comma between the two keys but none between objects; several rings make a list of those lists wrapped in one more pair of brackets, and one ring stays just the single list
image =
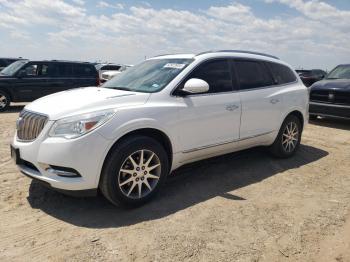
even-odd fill
[{"label": "chrome vertical-slat front grille of the white SUV", "polygon": [[35,140],[47,123],[47,116],[23,110],[16,123],[17,137],[21,141]]}]

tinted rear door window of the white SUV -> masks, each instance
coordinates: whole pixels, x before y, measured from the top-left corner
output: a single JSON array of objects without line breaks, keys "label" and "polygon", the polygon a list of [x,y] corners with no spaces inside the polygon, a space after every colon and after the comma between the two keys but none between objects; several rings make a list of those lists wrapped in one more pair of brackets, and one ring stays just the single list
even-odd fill
[{"label": "tinted rear door window of the white SUV", "polygon": [[240,89],[253,89],[274,85],[266,66],[258,61],[235,61]]}]

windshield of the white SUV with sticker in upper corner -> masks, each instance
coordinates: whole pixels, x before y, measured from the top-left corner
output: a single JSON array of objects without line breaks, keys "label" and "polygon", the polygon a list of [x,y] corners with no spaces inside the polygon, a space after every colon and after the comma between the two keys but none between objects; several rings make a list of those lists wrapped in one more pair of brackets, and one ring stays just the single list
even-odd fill
[{"label": "windshield of the white SUV with sticker in upper corner", "polygon": [[115,76],[102,87],[144,93],[158,92],[192,61],[192,59],[147,60]]}]

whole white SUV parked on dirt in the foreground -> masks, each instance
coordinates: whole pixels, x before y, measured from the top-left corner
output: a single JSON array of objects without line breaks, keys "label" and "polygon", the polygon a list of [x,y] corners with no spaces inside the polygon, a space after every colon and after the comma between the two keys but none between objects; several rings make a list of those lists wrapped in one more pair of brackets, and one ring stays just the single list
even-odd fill
[{"label": "whole white SUV parked on dirt in the foreground", "polygon": [[174,169],[268,146],[299,147],[308,91],[278,58],[244,51],[154,57],[102,87],[49,95],[17,121],[12,157],[59,191],[140,205]]}]

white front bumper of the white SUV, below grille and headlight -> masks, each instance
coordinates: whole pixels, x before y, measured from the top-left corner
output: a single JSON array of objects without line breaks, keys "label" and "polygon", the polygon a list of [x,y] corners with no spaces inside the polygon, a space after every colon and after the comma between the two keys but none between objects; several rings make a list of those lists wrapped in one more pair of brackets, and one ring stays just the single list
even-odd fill
[{"label": "white front bumper of the white SUV, below grille and headlight", "polygon": [[[41,134],[32,142],[20,142],[16,135],[12,147],[18,149],[20,171],[58,191],[96,191],[103,162],[110,141],[98,132],[67,140],[48,137],[53,121],[49,121]],[[64,177],[48,167],[65,167],[76,170],[79,176]]]}]

